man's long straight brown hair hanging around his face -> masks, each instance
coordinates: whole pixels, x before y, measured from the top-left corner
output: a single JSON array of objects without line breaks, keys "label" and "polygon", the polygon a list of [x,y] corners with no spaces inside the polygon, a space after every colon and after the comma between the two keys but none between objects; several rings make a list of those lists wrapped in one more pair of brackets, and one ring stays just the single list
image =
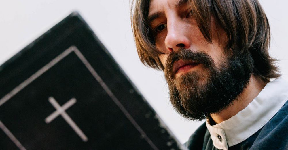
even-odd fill
[{"label": "man's long straight brown hair hanging around his face", "polygon": [[[150,0],[132,0],[131,24],[141,62],[156,69],[164,69],[159,60],[154,37],[147,22]],[[240,55],[253,59],[253,74],[268,82],[279,77],[276,59],[268,53],[270,27],[258,0],[190,0],[193,17],[208,42],[211,39],[211,16],[227,35],[227,49],[237,49]]]}]

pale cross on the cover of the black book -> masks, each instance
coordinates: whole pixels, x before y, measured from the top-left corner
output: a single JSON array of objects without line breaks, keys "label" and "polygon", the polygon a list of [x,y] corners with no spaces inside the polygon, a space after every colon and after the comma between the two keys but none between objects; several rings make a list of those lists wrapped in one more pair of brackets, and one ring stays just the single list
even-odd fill
[{"label": "pale cross on the cover of the black book", "polygon": [[73,104],[76,103],[76,99],[75,98],[70,99],[62,107],[57,103],[57,101],[53,97],[49,97],[48,101],[54,106],[56,111],[54,111],[51,115],[45,118],[45,122],[48,124],[52,120],[54,120],[57,116],[61,115],[63,119],[71,126],[71,128],[80,136],[80,138],[84,142],[87,142],[88,141],[87,136],[82,132],[82,130],[77,126],[77,124],[75,124],[75,122],[65,112],[66,109],[68,109],[69,107],[71,107]]}]

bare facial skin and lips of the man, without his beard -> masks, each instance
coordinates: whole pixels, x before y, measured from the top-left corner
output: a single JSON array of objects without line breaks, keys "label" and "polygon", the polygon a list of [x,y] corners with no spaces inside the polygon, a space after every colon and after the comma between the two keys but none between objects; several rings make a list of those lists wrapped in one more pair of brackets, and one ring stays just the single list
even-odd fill
[{"label": "bare facial skin and lips of the man, without his beard", "polygon": [[[152,0],[150,2],[148,18],[157,16],[151,21],[151,28],[155,31],[157,49],[166,53],[159,56],[164,67],[168,55],[179,51],[181,47],[191,51],[205,52],[212,57],[215,64],[223,60],[225,34],[216,35],[222,31],[220,28],[215,30],[215,23],[212,20],[213,43],[208,43],[200,32],[191,11],[189,3],[183,0]],[[179,65],[181,64],[184,63],[181,61]],[[177,64],[176,68],[179,65]],[[203,71],[202,69],[201,65],[187,65],[176,70],[175,76],[179,77],[191,71]]]}]

